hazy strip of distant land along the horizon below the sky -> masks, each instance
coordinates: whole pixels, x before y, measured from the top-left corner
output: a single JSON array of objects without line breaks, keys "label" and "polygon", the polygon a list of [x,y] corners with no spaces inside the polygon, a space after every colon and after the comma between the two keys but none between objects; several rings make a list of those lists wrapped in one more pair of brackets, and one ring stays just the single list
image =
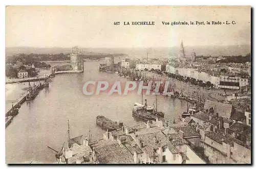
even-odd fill
[{"label": "hazy strip of distant land along the horizon below the sky", "polygon": [[[184,44],[186,56],[190,56],[195,51],[196,55],[204,56],[245,56],[251,53],[250,45],[229,45],[229,46],[186,46]],[[80,48],[84,55],[107,55],[107,54],[127,54],[129,57],[148,58],[154,57],[175,57],[179,54],[179,47],[151,47],[151,48]],[[6,56],[24,54],[59,54],[70,53],[71,48],[38,48],[38,47],[6,47]]]}]

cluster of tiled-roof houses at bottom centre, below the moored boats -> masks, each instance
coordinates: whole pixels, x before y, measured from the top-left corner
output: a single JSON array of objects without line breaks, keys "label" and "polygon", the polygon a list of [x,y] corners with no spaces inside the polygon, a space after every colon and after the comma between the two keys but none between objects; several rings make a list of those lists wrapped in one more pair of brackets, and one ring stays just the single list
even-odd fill
[{"label": "cluster of tiled-roof houses at bottom centre, below the moored boats", "polygon": [[168,132],[156,123],[141,123],[115,131],[103,138],[73,138],[60,163],[164,164],[205,163],[183,138],[183,129]]}]

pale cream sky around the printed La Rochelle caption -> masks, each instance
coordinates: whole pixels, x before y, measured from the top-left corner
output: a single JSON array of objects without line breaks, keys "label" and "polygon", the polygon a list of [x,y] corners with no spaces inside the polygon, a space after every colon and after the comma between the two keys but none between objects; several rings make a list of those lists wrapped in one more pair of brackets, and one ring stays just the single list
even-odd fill
[{"label": "pale cream sky around the printed La Rochelle caption", "polygon": [[[250,10],[249,6],[8,6],[6,47],[172,47],[181,40],[186,46],[250,44]],[[206,20],[233,20],[236,25],[162,25],[162,21]],[[132,21],[155,21],[155,25],[132,26]]]}]

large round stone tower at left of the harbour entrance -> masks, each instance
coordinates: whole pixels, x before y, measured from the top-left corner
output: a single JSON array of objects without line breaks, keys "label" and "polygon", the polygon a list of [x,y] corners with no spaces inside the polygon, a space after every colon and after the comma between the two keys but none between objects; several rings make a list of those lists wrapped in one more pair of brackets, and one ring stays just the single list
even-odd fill
[{"label": "large round stone tower at left of the harbour entrance", "polygon": [[77,46],[72,48],[72,53],[70,54],[70,63],[75,71],[83,71],[83,56],[82,51],[78,49]]}]

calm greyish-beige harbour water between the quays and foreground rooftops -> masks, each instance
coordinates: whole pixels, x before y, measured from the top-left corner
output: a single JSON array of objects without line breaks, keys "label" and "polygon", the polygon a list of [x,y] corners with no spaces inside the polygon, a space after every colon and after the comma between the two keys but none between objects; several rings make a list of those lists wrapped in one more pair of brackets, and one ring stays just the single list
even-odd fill
[{"label": "calm greyish-beige harbour water between the quays and foreground rooftops", "polygon": [[[41,90],[34,100],[20,107],[19,114],[6,128],[6,163],[55,162],[55,152],[47,146],[61,149],[67,141],[68,120],[71,137],[87,135],[90,130],[93,140],[98,135],[101,138],[104,132],[96,126],[98,115],[120,120],[128,126],[141,123],[132,116],[134,103],[141,103],[137,91],[127,95],[83,94],[82,87],[87,81],[127,81],[117,74],[99,72],[98,65],[97,61],[87,61],[83,73],[56,75],[49,89]],[[143,95],[144,99],[153,106],[156,97]],[[157,100],[158,110],[163,111],[166,118],[178,119],[186,110],[185,101],[162,95]]]}]

